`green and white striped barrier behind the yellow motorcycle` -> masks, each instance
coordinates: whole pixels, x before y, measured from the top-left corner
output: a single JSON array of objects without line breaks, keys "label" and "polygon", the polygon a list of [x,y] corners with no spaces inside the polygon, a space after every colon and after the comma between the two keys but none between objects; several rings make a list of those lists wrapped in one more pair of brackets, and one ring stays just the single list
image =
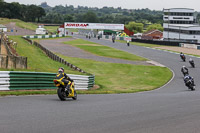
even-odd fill
[{"label": "green and white striped barrier behind the yellow motorcycle", "polygon": [[[56,89],[53,84],[55,76],[56,73],[0,71],[0,90]],[[93,75],[68,76],[74,80],[76,90],[92,88],[95,83]]]}]

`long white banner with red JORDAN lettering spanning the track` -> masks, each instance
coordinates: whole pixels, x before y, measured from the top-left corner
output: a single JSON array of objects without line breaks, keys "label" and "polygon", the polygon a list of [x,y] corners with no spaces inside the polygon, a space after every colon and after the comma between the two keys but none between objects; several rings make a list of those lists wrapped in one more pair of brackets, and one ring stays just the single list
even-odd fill
[{"label": "long white banner with red JORDAN lettering spanning the track", "polygon": [[65,22],[65,28],[74,29],[108,29],[108,30],[124,30],[124,24],[105,24],[105,23],[71,23]]}]

